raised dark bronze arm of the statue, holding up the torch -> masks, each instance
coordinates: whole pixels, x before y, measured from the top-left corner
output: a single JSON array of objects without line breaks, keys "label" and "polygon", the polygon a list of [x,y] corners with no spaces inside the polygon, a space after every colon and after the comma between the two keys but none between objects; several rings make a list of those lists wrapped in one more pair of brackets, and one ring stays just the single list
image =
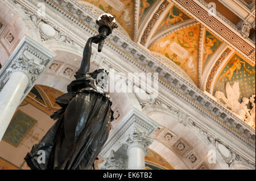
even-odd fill
[{"label": "raised dark bronze arm of the statue, holding up the torch", "polygon": [[105,39],[106,36],[104,36],[102,33],[99,35],[90,37],[84,47],[84,53],[82,55],[82,62],[80,69],[77,71],[78,73],[86,73],[90,69],[90,56],[92,54],[92,43],[98,44],[100,40]]}]

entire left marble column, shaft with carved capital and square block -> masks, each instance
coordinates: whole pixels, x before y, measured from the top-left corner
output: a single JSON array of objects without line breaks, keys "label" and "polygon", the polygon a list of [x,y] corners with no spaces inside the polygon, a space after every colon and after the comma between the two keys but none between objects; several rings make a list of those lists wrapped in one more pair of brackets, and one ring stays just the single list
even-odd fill
[{"label": "entire left marble column, shaft with carved capital and square block", "polygon": [[0,71],[0,141],[16,108],[55,58],[55,54],[24,36]]}]

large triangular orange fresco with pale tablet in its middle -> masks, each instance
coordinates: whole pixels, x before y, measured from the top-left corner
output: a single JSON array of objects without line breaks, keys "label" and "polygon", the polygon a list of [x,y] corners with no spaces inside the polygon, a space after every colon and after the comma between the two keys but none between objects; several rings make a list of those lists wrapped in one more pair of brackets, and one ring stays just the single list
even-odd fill
[{"label": "large triangular orange fresco with pale tablet in its middle", "polygon": [[198,48],[200,24],[170,33],[150,47],[175,62],[198,85]]}]

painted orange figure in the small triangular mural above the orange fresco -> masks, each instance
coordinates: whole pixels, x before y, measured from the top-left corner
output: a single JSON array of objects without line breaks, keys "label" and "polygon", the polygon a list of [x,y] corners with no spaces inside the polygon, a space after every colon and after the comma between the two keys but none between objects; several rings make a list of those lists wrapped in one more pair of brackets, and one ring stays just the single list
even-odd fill
[{"label": "painted orange figure in the small triangular mural above the orange fresco", "polygon": [[[182,12],[178,12],[177,15],[174,15],[174,8],[172,8],[170,10],[170,12],[168,13],[166,20],[164,20],[160,24],[160,26],[158,27],[158,30],[162,29],[163,27],[166,28],[169,23],[171,25],[173,25],[173,24],[176,24],[178,22],[184,22],[183,13]],[[158,30],[156,30],[156,31],[158,31]]]}]

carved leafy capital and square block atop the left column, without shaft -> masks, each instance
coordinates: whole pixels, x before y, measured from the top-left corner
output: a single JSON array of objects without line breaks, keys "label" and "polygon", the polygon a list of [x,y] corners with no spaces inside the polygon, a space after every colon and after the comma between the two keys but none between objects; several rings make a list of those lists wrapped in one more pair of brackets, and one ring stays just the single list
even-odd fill
[{"label": "carved leafy capital and square block atop the left column, without shaft", "polygon": [[9,80],[11,73],[23,71],[29,81],[23,94],[24,98],[34,86],[36,79],[48,68],[55,56],[50,50],[25,35],[0,70],[0,91]]}]

